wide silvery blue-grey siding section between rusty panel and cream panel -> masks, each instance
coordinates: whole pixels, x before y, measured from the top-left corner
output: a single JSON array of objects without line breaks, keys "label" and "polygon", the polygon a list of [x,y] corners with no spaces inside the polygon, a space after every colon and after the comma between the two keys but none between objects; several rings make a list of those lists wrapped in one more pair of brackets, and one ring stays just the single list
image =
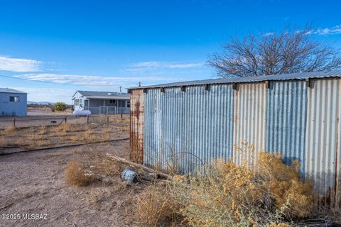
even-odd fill
[{"label": "wide silvery blue-grey siding section between rusty panel and cream panel", "polygon": [[148,89],[145,164],[189,172],[232,155],[232,85]]}]

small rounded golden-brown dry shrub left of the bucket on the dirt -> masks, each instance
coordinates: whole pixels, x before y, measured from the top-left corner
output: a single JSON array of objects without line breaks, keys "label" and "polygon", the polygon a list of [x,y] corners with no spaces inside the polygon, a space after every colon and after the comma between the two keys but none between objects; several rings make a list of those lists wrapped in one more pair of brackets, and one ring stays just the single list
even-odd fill
[{"label": "small rounded golden-brown dry shrub left of the bucket on the dirt", "polygon": [[85,173],[85,166],[75,159],[72,159],[65,169],[67,182],[74,186],[87,186],[94,177]]}]

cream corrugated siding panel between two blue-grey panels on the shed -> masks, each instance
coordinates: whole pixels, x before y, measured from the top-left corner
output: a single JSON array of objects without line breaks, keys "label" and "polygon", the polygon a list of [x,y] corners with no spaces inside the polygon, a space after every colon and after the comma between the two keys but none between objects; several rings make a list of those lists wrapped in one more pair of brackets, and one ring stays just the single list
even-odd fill
[{"label": "cream corrugated siding panel between two blue-grey panels on the shed", "polygon": [[237,164],[244,159],[254,163],[259,150],[265,148],[266,90],[265,83],[238,84],[234,90],[233,144],[243,149],[233,150]]}]

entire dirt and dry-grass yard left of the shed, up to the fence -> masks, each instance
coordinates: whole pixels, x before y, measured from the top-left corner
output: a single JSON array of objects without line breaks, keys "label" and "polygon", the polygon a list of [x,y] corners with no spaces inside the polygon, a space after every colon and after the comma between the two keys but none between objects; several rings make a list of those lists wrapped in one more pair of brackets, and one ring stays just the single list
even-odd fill
[{"label": "entire dirt and dry-grass yard left of the shed, up to the fence", "polygon": [[[27,118],[31,117],[37,116]],[[125,139],[108,142],[121,138]],[[107,142],[13,153],[98,141]],[[93,118],[91,123],[79,123],[76,118],[57,126],[28,123],[0,130],[0,214],[20,216],[19,220],[1,216],[0,226],[136,226],[131,201],[142,187],[125,184],[118,175],[96,175],[85,187],[70,186],[65,178],[70,160],[87,163],[90,170],[105,162],[106,153],[129,158],[127,116],[110,116],[109,122],[107,116]],[[41,214],[42,219],[23,220],[26,214]]]}]

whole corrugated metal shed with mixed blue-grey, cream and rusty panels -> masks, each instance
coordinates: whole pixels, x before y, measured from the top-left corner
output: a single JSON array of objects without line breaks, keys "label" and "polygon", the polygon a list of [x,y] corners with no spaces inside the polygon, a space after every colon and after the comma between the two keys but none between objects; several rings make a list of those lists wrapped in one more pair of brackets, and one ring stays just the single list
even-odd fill
[{"label": "whole corrugated metal shed with mixed blue-grey, cream and rusty panels", "polygon": [[[189,172],[219,157],[252,162],[261,149],[278,151],[288,164],[301,160],[303,177],[313,177],[316,192],[333,200],[341,160],[340,70],[180,82],[130,92],[131,106],[134,99],[146,104],[140,106],[145,115],[131,114],[132,136],[136,131],[141,136],[136,128],[145,126],[144,138],[131,140],[131,148],[138,149],[131,151],[133,160],[144,154],[145,165]],[[136,121],[136,116],[144,119]],[[242,142],[254,148],[239,154],[232,147],[243,148]]]}]

